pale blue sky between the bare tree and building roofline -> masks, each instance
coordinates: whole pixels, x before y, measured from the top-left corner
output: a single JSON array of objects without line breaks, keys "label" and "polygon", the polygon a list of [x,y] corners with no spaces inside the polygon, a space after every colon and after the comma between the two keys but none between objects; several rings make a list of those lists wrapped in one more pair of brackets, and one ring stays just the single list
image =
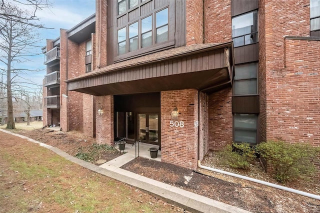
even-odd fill
[{"label": "pale blue sky between the bare tree and building roofline", "polygon": [[[70,29],[88,16],[95,12],[95,0],[49,0],[51,6],[43,10],[39,10],[36,16],[39,23],[44,27],[53,29],[39,29],[40,42],[34,49],[40,53],[41,47],[46,45],[46,39],[55,39],[60,35],[60,28]],[[38,72],[28,72],[23,75],[27,80],[31,80],[37,84],[42,84],[42,80],[46,73],[44,62],[44,54],[33,56],[30,61],[23,62],[23,66],[32,70],[41,70]]]}]

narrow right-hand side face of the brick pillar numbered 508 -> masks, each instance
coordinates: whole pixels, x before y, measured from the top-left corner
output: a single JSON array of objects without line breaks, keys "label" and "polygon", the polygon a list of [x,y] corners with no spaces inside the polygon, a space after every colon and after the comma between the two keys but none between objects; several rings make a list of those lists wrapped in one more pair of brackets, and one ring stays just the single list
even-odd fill
[{"label": "narrow right-hand side face of the brick pillar numbered 508", "polygon": [[209,149],[208,140],[208,95],[200,92],[199,103],[199,160],[202,160]]}]

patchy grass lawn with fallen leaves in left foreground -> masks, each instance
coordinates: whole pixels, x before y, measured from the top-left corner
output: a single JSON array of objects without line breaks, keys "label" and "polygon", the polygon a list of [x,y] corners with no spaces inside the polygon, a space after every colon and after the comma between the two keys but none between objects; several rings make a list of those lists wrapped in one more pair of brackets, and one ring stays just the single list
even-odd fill
[{"label": "patchy grass lawn with fallen leaves in left foreground", "polygon": [[183,212],[26,139],[0,138],[0,212]]}]

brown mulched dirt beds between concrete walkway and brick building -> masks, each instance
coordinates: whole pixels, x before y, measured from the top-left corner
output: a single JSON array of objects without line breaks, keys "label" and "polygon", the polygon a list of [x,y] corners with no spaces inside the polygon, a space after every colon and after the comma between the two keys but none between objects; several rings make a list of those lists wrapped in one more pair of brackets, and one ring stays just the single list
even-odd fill
[{"label": "brown mulched dirt beds between concrete walkway and brick building", "polygon": [[[88,148],[95,142],[95,138],[75,131],[47,131],[47,129],[19,130],[16,133],[58,147],[73,156],[80,146]],[[217,160],[214,157],[213,152],[207,153],[201,164],[216,166],[214,162]],[[252,212],[320,212],[320,200],[204,169],[193,171],[170,163],[141,157],[125,164],[122,168]],[[227,170],[227,168],[223,169]],[[251,165],[250,171],[247,172],[230,171],[276,183],[270,175],[260,169],[258,162],[257,165]],[[286,186],[320,194],[318,183],[296,181]]]}]

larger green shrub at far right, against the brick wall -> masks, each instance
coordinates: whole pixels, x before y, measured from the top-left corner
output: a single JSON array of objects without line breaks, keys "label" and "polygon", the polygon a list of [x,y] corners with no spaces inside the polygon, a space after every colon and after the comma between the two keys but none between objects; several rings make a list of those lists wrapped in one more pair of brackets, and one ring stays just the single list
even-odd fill
[{"label": "larger green shrub at far right, against the brick wall", "polygon": [[320,153],[311,145],[284,141],[261,142],[256,150],[270,163],[275,179],[281,183],[311,175],[315,170],[312,161]]}]

